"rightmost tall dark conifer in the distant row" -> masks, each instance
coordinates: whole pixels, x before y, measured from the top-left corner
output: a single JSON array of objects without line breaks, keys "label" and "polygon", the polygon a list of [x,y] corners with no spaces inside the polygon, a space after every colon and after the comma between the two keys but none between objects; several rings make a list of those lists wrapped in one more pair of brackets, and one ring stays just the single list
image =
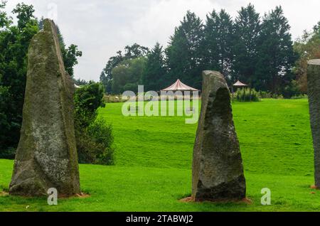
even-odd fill
[{"label": "rightmost tall dark conifer in the distant row", "polygon": [[294,79],[292,67],[295,55],[289,23],[281,6],[265,14],[260,33],[259,53],[257,55],[257,81],[260,90],[281,93]]}]

